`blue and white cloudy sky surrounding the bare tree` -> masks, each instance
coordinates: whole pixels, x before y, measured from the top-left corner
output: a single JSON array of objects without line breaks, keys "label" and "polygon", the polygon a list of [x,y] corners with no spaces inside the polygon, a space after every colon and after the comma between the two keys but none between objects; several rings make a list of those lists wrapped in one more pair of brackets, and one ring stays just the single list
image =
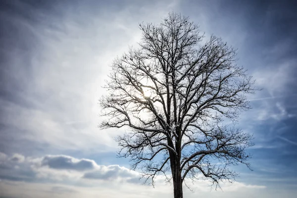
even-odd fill
[{"label": "blue and white cloudy sky surrounding the bare tree", "polygon": [[240,177],[217,191],[189,182],[184,197],[295,197],[296,9],[294,0],[1,0],[0,197],[173,197],[164,178],[143,185],[117,158],[123,130],[97,127],[112,60],[137,46],[139,23],[171,11],[238,49],[262,89],[239,121],[254,135],[253,171],[235,166]]}]

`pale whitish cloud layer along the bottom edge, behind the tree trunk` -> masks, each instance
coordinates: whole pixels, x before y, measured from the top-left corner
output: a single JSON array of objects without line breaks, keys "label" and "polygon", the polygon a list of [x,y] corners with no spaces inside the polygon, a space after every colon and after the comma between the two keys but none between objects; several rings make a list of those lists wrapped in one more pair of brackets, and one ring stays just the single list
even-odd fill
[{"label": "pale whitish cloud layer along the bottom edge, behind the tree trunk", "polygon": [[[158,184],[155,188],[151,186],[135,185],[131,183],[114,184],[113,181],[92,181],[96,183],[96,187],[88,186],[71,186],[59,183],[37,183],[37,182],[17,182],[17,181],[2,181],[0,182],[0,197],[9,196],[10,198],[172,198],[172,188],[170,184]],[[188,183],[190,185],[191,183]],[[192,188],[194,187],[194,188]],[[290,192],[280,190],[276,194],[271,192],[271,189],[266,189],[258,186],[246,185],[240,182],[234,183],[228,190],[211,191],[207,188],[208,184],[205,181],[200,181],[191,185],[194,193],[190,192],[184,186],[184,197],[197,198],[278,198],[280,194],[291,195]],[[227,188],[227,187],[226,187]],[[290,197],[290,196],[289,196]]]}]

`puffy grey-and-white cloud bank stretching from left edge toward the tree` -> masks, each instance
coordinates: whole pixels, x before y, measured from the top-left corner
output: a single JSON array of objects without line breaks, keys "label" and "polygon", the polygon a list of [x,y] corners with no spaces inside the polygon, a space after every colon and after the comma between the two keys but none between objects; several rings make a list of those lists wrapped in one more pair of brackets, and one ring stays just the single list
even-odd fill
[{"label": "puffy grey-and-white cloud bank stretching from left edge toward the tree", "polygon": [[[139,173],[119,165],[99,165],[91,159],[77,159],[68,155],[25,157],[2,153],[0,179],[89,184],[86,180],[140,183]],[[92,184],[91,184],[92,185]]]}]

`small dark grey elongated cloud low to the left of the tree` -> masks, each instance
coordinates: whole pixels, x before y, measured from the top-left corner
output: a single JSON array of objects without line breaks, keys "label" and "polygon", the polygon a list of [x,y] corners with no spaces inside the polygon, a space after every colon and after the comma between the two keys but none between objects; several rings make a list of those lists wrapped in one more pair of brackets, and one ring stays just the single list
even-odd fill
[{"label": "small dark grey elongated cloud low to the left of the tree", "polygon": [[68,169],[68,170],[92,170],[98,165],[94,160],[76,159],[66,155],[47,155],[41,162],[42,166],[49,166],[53,169]]}]

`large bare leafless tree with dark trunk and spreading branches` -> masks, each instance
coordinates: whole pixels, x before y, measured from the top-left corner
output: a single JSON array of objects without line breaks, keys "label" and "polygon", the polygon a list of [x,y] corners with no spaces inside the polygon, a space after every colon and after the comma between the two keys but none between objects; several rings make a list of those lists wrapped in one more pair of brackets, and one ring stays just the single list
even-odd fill
[{"label": "large bare leafless tree with dark trunk and spreading branches", "polygon": [[186,178],[203,177],[216,188],[232,181],[230,165],[249,167],[252,136],[234,125],[255,90],[236,65],[236,50],[213,35],[202,42],[198,25],[176,13],[140,29],[139,48],[111,65],[109,94],[99,100],[108,120],[100,127],[127,126],[117,138],[120,156],[130,157],[152,185],[159,174],[172,180],[174,198],[183,197]]}]

